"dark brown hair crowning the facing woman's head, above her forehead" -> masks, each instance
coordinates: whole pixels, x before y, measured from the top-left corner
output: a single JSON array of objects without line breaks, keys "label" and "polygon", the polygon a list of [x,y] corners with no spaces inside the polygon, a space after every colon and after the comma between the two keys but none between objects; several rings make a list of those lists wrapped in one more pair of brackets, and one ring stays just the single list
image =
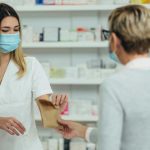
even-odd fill
[{"label": "dark brown hair crowning the facing woman's head, above her forehead", "polygon": [[5,3],[0,3],[0,23],[5,17],[8,17],[8,16],[15,17],[18,20],[19,26],[20,26],[20,19],[19,19],[19,15],[17,14],[17,12],[11,6]]}]

